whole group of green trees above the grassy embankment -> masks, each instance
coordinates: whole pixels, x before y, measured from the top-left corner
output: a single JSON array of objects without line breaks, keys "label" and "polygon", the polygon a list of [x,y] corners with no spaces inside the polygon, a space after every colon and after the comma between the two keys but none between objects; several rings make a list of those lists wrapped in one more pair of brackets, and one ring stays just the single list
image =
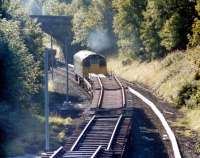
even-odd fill
[{"label": "whole group of green trees above the grassy embankment", "polygon": [[152,60],[186,47],[194,2],[114,0],[113,28],[120,52]]}]

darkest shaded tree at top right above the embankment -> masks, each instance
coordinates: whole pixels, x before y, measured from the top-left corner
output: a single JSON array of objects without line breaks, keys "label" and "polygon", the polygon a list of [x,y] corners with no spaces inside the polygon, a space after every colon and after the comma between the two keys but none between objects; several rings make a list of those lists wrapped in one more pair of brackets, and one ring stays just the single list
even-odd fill
[{"label": "darkest shaded tree at top right above the embankment", "polygon": [[191,32],[191,26],[196,14],[195,0],[167,0],[161,1],[160,4],[162,16],[164,16],[163,29],[168,25],[166,23],[169,23],[171,20],[171,23],[174,23],[174,25],[172,24],[173,26],[170,27],[171,30],[167,36],[174,34],[173,36],[176,36],[174,38],[175,48],[185,49],[188,43],[187,35]]}]

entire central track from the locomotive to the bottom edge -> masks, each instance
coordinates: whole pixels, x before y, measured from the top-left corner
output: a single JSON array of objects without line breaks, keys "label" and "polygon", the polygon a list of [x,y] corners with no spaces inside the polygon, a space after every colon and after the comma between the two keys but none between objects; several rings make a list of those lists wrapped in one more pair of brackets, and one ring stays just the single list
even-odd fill
[{"label": "entire central track from the locomotive to the bottom edge", "polygon": [[[60,72],[64,73],[63,69],[60,69]],[[125,88],[116,76],[97,76],[92,79],[92,83],[91,107],[110,111],[126,107]],[[90,83],[87,81],[86,84]],[[122,113],[92,116],[88,123],[84,124],[83,130],[74,133],[64,147],[43,154],[42,158],[123,157],[130,140],[132,119]]]}]

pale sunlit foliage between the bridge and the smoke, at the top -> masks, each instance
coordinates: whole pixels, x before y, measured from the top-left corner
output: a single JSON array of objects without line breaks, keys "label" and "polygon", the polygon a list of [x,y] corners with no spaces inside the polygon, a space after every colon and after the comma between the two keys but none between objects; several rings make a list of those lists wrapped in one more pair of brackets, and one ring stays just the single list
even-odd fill
[{"label": "pale sunlit foliage between the bridge and the smoke, at the top", "polygon": [[78,9],[73,16],[73,43],[87,46],[89,34],[103,29],[112,34],[111,3],[109,0],[93,0],[90,5]]}]

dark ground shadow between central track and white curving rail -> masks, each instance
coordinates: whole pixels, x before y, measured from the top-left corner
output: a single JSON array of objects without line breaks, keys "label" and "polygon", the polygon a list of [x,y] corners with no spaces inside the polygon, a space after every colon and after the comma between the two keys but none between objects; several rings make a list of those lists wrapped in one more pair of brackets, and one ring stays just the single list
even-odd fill
[{"label": "dark ground shadow between central track and white curving rail", "polygon": [[128,157],[168,158],[159,131],[140,108],[133,108],[132,145]]}]

